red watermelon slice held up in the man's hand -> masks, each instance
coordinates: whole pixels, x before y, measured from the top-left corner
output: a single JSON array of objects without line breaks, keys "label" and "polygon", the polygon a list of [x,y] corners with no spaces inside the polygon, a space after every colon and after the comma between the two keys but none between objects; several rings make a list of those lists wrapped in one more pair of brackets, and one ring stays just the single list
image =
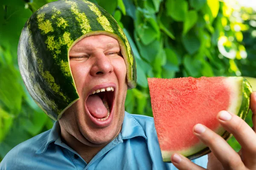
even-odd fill
[{"label": "red watermelon slice held up in the man's hand", "polygon": [[192,132],[201,123],[225,140],[232,135],[216,119],[226,110],[245,119],[252,88],[243,77],[148,78],[151,105],[163,161],[173,153],[196,159],[210,152]]}]

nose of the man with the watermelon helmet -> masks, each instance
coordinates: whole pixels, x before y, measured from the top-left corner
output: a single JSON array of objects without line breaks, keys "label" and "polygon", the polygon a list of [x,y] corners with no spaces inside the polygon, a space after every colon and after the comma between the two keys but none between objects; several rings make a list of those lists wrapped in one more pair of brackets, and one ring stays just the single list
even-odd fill
[{"label": "nose of the man with the watermelon helmet", "polygon": [[90,69],[92,76],[103,76],[113,72],[113,65],[111,59],[103,52],[96,54],[94,57],[93,66]]}]

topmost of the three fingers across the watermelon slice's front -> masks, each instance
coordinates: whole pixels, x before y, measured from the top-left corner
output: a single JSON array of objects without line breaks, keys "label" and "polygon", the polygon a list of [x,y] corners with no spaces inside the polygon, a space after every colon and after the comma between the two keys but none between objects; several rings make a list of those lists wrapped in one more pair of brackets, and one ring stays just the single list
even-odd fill
[{"label": "topmost of the three fingers across the watermelon slice's front", "polygon": [[253,156],[251,159],[256,159],[256,133],[253,129],[233,113],[221,111],[217,117],[222,127],[232,133],[241,147]]}]

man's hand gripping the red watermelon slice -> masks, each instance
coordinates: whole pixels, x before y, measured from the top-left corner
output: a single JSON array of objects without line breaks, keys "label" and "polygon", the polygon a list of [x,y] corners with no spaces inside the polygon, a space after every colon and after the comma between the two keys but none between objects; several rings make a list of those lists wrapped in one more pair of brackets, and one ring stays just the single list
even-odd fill
[{"label": "man's hand gripping the red watermelon slice", "polygon": [[[209,128],[195,125],[193,133],[212,151],[208,155],[208,170],[256,170],[256,92],[250,96],[250,109],[253,112],[253,128],[232,113],[221,111],[217,116],[221,125],[241,145],[239,153]],[[177,153],[172,155],[171,160],[179,170],[205,170]]]}]

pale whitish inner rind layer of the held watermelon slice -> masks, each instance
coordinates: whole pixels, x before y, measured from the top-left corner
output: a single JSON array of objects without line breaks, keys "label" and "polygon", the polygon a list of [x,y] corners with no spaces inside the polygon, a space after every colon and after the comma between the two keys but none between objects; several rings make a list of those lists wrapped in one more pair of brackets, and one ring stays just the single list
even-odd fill
[{"label": "pale whitish inner rind layer of the held watermelon slice", "polygon": [[[234,113],[234,114],[239,113],[239,110],[242,104],[242,99],[243,99],[243,92],[242,92],[243,79],[244,79],[243,77],[224,78],[224,85],[231,90],[230,91],[230,107],[227,109],[227,111],[230,113]],[[216,129],[217,130],[215,132],[218,134],[223,134],[226,131],[221,126],[217,127]],[[161,150],[161,154],[162,154],[163,161],[170,161],[173,153],[180,153],[183,156],[190,156],[194,154],[196,151],[203,150],[206,147],[207,146],[204,143],[199,142],[194,147],[191,147],[189,150],[187,149],[179,150],[179,151]]]}]

